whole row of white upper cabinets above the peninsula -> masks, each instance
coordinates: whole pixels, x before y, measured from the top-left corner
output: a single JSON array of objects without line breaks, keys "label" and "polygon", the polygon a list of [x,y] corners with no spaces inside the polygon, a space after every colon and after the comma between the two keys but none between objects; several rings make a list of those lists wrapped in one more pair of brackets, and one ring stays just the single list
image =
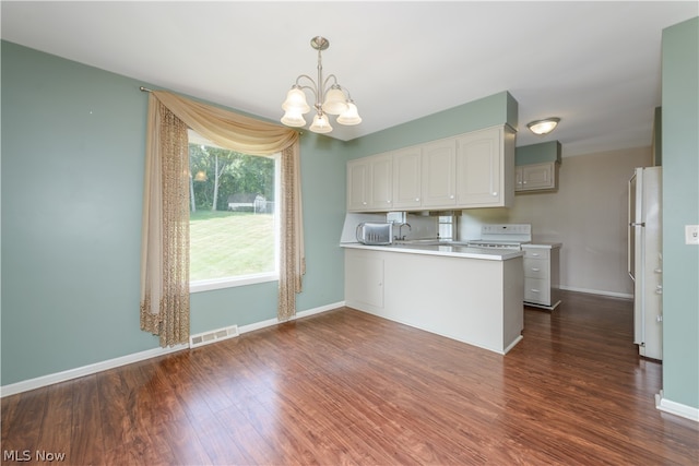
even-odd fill
[{"label": "whole row of white upper cabinets above the peninsula", "polygon": [[507,207],[514,183],[514,131],[494,127],[348,162],[347,210]]}]

